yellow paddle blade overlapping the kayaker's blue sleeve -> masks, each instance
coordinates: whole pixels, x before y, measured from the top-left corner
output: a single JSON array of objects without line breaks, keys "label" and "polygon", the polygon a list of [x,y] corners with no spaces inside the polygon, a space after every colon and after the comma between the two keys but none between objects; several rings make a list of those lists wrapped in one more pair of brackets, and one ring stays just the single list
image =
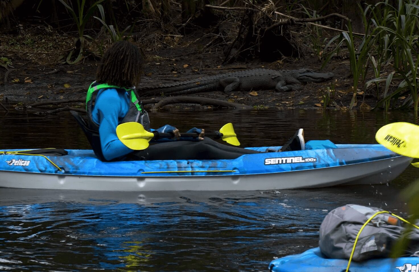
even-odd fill
[{"label": "yellow paddle blade overlapping the kayaker's blue sleeve", "polygon": [[153,139],[154,134],[146,131],[140,123],[128,122],[116,127],[116,136],[128,148],[143,150],[149,146],[148,142]]}]

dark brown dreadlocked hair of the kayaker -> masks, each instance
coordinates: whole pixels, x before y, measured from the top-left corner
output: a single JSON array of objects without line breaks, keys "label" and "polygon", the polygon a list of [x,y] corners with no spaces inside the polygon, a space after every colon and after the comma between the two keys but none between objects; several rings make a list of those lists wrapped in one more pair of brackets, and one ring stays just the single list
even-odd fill
[{"label": "dark brown dreadlocked hair of the kayaker", "polygon": [[141,65],[140,49],[129,41],[118,41],[103,55],[96,71],[96,81],[120,87],[137,86]]}]

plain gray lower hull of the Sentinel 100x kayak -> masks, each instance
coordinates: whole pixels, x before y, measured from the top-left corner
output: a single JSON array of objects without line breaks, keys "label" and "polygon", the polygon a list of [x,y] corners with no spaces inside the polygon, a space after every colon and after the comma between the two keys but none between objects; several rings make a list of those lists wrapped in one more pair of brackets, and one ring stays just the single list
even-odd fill
[{"label": "plain gray lower hull of the Sentinel 100x kayak", "polygon": [[283,190],[336,185],[385,184],[412,161],[391,157],[290,172],[211,176],[88,176],[0,171],[0,187],[98,191]]}]

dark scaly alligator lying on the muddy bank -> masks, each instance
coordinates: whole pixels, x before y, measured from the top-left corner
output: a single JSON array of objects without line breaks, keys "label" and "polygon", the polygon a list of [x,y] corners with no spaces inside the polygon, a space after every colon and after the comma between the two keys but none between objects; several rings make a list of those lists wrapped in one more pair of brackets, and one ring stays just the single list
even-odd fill
[{"label": "dark scaly alligator lying on the muddy bank", "polygon": [[289,92],[297,85],[308,82],[330,80],[333,73],[316,73],[309,69],[277,71],[272,69],[250,69],[217,74],[194,80],[179,81],[157,86],[140,86],[142,95],[185,95],[216,90],[231,94],[234,91],[277,90]]}]

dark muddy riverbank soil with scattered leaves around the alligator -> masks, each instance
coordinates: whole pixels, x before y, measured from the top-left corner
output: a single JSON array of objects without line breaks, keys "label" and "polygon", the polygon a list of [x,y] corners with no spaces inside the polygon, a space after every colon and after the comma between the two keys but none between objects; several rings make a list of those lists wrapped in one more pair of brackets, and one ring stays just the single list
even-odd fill
[{"label": "dark muddy riverbank soil with scattered leaves around the alligator", "polygon": [[[36,33],[31,31],[30,33]],[[28,39],[30,34],[13,36]],[[33,34],[35,35],[35,34]],[[195,33],[196,35],[196,33]],[[54,36],[54,35],[52,35]],[[55,35],[57,37],[57,35]],[[10,35],[1,35],[1,39],[9,39]],[[35,37],[36,38],[36,37]],[[34,38],[32,38],[34,39]],[[68,48],[68,37],[61,44],[60,50]],[[144,75],[141,84],[160,84],[168,83],[172,80],[188,80],[195,77],[212,75],[223,72],[231,72],[233,69],[298,69],[309,68],[319,71],[321,62],[310,51],[304,52],[301,59],[284,58],[281,61],[272,63],[261,62],[254,59],[248,62],[236,62],[221,66],[224,60],[223,48],[212,47],[207,51],[199,49],[207,43],[204,39],[195,42],[196,36],[185,36],[181,38],[177,46],[169,47],[166,45],[156,46],[154,49],[145,48],[146,60],[143,66]],[[44,44],[47,42],[44,42]],[[32,48],[24,46],[20,41],[16,44],[21,46],[3,46],[5,56],[13,61],[14,70],[7,72],[0,66],[0,82],[2,90],[0,99],[3,104],[16,108],[21,105],[38,101],[52,100],[83,100],[88,86],[95,80],[95,70],[97,59],[86,57],[83,63],[77,65],[59,64],[56,59],[58,54],[42,54],[39,52],[40,44],[33,44]],[[41,43],[42,44],[42,43]],[[54,46],[56,47],[56,43]],[[166,46],[166,48],[163,48]],[[51,48],[52,52],[57,48]],[[41,49],[47,51],[48,49]],[[292,92],[276,92],[274,90],[257,91],[257,95],[245,92],[236,92],[233,95],[226,95],[223,92],[204,92],[194,94],[209,98],[228,100],[230,102],[251,105],[256,108],[323,108],[323,95],[327,87],[334,87],[336,104],[332,103],[330,108],[345,110],[349,107],[352,99],[352,76],[349,70],[349,60],[336,58],[332,59],[324,72],[333,72],[334,80],[322,83],[310,83],[304,85],[300,90]],[[367,78],[368,80],[368,78]],[[4,82],[3,82],[4,81]],[[143,97],[142,99],[150,99]],[[362,103],[365,99],[364,103]],[[354,108],[371,108],[377,102],[372,95],[363,95],[359,90],[357,95],[357,105]],[[1,101],[1,100],[0,100]],[[69,105],[69,104],[66,104]],[[72,103],[72,106],[83,108],[83,103]],[[186,108],[190,105],[174,105]],[[170,105],[166,107],[171,107]],[[0,109],[1,110],[1,109]]]}]

